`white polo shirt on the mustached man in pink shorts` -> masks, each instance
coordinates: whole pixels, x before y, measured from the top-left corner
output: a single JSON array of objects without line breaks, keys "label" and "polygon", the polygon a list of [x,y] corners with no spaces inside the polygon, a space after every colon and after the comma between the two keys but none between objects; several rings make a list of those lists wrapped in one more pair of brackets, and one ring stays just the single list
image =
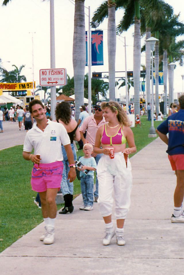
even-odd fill
[{"label": "white polo shirt on the mustached man in pink shorts", "polygon": [[44,132],[35,122],[32,129],[26,133],[23,151],[41,155],[40,163],[52,163],[62,161],[62,145],[70,144],[70,138],[61,123],[48,119]]}]

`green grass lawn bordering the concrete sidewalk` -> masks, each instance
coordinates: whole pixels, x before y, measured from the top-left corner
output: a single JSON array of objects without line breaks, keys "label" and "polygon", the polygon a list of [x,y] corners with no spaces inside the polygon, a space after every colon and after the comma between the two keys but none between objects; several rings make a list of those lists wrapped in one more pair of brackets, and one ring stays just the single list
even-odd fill
[{"label": "green grass lawn bordering the concrete sidewalk", "polygon": [[[154,122],[154,127],[159,124]],[[151,122],[145,116],[141,117],[141,126],[132,128],[137,152],[154,140],[148,138]],[[43,221],[41,209],[33,203],[36,192],[30,186],[32,162],[23,159],[22,149],[19,145],[0,151],[0,252]],[[77,155],[82,156],[83,151]],[[80,193],[80,181],[76,179],[74,194]]]}]

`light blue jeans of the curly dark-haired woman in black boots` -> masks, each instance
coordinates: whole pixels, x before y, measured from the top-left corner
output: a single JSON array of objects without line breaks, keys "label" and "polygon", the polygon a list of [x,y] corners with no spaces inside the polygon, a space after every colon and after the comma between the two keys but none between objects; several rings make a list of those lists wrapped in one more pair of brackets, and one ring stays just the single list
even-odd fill
[{"label": "light blue jeans of the curly dark-haired woman in black boots", "polygon": [[[74,154],[74,161],[76,161],[77,155],[76,155],[76,150],[75,150],[73,143],[71,143],[71,147],[72,147],[72,152]],[[69,162],[67,159],[66,150],[63,145],[62,145],[62,154],[63,154],[63,161],[62,161],[63,162],[63,174],[62,174],[62,180],[61,180],[61,191],[62,191],[63,196],[66,194],[73,195],[74,185],[73,185],[73,182],[70,182],[70,180],[68,180],[68,173],[70,171],[70,168],[68,167]]]}]

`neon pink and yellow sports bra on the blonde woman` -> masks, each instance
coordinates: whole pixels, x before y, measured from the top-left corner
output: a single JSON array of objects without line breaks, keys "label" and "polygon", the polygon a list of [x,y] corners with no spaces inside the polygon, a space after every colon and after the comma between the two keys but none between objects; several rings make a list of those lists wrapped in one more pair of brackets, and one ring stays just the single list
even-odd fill
[{"label": "neon pink and yellow sports bra on the blonde woman", "polygon": [[108,136],[106,132],[106,124],[103,126],[103,133],[101,137],[101,144],[104,145],[121,145],[125,144],[127,140],[122,134],[122,126],[118,129],[118,132],[114,136]]}]

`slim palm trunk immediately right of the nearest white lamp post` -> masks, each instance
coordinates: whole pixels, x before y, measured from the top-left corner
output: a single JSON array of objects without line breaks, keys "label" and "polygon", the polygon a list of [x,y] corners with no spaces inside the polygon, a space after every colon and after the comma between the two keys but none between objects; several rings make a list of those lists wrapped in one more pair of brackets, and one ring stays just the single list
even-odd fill
[{"label": "slim palm trunk immediately right of the nearest white lamp post", "polygon": [[159,98],[158,98],[158,71],[159,71],[159,45],[155,44],[155,110],[159,113]]}]

